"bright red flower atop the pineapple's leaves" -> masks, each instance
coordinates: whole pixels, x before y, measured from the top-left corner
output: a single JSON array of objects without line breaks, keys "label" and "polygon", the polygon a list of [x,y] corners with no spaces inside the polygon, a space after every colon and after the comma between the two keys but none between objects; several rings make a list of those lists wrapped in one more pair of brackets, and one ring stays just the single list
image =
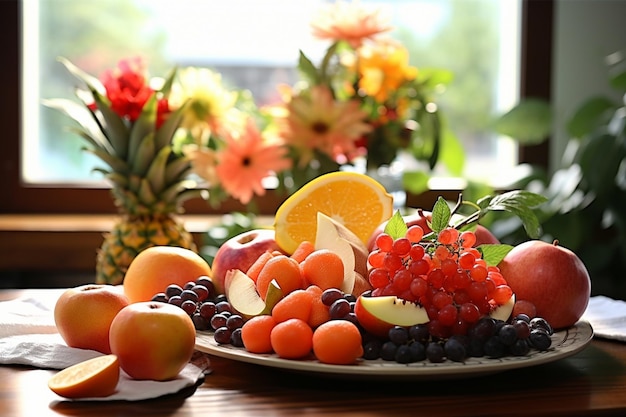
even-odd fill
[{"label": "bright red flower atop the pineapple's leaves", "polygon": [[101,81],[111,102],[111,109],[131,122],[139,118],[141,109],[154,93],[148,85],[146,66],[139,57],[121,60],[117,68],[102,75]]}]

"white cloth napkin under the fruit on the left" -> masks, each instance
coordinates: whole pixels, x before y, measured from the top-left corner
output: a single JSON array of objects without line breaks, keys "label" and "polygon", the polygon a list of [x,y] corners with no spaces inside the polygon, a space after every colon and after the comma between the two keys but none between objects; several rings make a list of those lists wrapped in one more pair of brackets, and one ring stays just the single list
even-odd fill
[{"label": "white cloth napkin under the fruit on the left", "polygon": [[[60,290],[42,291],[41,297],[0,302],[0,365],[28,365],[63,369],[100,352],[67,346],[54,324],[54,305]],[[123,371],[116,392],[108,397],[81,401],[145,400],[172,394],[198,382],[208,373],[206,358],[196,358],[170,381],[139,381]],[[195,363],[195,364],[194,364]],[[198,365],[198,366],[196,366]]]}]

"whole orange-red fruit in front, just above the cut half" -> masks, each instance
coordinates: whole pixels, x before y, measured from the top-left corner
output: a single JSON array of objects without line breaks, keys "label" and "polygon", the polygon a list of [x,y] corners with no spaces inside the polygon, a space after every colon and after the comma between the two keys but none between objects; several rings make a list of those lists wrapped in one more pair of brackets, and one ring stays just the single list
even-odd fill
[{"label": "whole orange-red fruit in front, just above the cut half", "polygon": [[166,381],[191,359],[196,330],[172,304],[143,301],[124,307],[111,323],[111,352],[131,378]]}]

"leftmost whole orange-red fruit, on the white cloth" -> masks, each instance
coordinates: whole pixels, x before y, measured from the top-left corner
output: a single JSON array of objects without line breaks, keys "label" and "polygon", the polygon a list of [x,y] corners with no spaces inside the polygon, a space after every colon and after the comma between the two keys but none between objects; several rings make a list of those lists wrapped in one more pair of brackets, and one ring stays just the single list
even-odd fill
[{"label": "leftmost whole orange-red fruit, on the white cloth", "polygon": [[54,322],[68,346],[109,354],[111,322],[128,304],[121,287],[81,285],[61,294],[54,306]]}]

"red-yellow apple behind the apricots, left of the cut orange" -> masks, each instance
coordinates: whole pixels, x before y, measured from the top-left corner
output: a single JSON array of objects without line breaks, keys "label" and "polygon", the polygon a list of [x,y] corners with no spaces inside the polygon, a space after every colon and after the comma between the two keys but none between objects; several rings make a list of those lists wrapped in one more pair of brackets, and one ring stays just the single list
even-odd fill
[{"label": "red-yellow apple behind the apricots, left of the cut orange", "polygon": [[218,293],[224,293],[226,272],[231,269],[248,271],[266,251],[281,251],[274,239],[273,229],[250,230],[224,242],[215,253],[211,265],[213,283]]}]

